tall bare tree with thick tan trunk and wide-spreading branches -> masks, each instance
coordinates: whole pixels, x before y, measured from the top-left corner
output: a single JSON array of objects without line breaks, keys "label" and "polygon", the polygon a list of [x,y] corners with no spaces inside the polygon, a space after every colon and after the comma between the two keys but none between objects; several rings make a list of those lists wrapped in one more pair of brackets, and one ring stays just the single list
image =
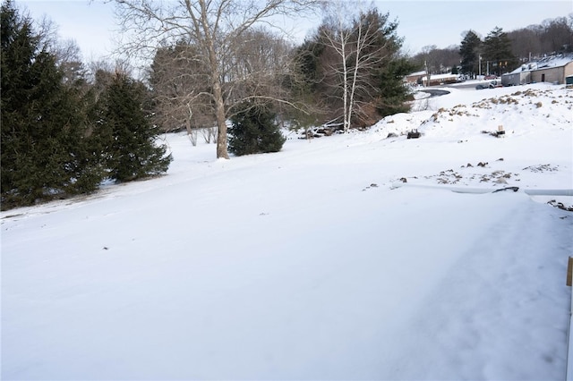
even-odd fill
[{"label": "tall bare tree with thick tan trunk and wide-spreading branches", "polygon": [[197,48],[194,60],[207,69],[209,90],[218,126],[217,157],[228,158],[227,117],[235,105],[227,87],[226,64],[236,44],[253,27],[273,26],[273,16],[312,11],[318,0],[111,0],[117,7],[124,48],[140,54],[160,44],[184,40]]}]

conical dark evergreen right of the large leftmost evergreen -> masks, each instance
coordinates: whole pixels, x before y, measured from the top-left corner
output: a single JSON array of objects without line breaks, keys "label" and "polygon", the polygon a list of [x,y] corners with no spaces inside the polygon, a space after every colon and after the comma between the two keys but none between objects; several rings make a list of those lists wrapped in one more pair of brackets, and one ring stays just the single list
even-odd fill
[{"label": "conical dark evergreen right of the large leftmost evergreen", "polygon": [[172,157],[157,145],[161,133],[145,112],[146,89],[124,73],[115,73],[98,100],[96,131],[106,157],[108,177],[127,182],[167,172]]}]

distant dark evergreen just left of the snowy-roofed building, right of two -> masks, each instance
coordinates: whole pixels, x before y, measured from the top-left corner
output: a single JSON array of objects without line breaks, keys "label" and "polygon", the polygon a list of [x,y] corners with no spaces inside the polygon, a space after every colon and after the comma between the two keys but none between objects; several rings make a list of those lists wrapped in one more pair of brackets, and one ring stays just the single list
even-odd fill
[{"label": "distant dark evergreen just left of the snowy-roofed building, right of two", "polygon": [[483,58],[490,62],[490,72],[501,75],[507,68],[517,66],[517,58],[511,52],[511,41],[508,35],[496,27],[483,40]]}]

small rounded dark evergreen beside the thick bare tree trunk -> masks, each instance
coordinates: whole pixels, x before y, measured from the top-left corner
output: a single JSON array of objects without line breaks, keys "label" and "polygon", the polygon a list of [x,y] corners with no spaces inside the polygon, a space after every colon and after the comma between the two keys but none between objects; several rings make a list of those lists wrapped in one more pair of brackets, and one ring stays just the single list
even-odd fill
[{"label": "small rounded dark evergreen beside the thick bare tree trunk", "polygon": [[268,105],[243,104],[243,111],[231,118],[229,151],[236,156],[278,152],[285,143],[275,114]]}]

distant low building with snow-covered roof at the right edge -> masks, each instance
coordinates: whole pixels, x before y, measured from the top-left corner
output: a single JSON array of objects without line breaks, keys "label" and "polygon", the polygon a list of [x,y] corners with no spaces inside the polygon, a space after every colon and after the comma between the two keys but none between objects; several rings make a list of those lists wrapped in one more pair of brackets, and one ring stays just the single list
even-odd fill
[{"label": "distant low building with snow-covered roof at the right edge", "polygon": [[552,55],[524,63],[513,72],[501,75],[503,86],[525,85],[534,82],[565,84],[573,75],[573,55]]}]

